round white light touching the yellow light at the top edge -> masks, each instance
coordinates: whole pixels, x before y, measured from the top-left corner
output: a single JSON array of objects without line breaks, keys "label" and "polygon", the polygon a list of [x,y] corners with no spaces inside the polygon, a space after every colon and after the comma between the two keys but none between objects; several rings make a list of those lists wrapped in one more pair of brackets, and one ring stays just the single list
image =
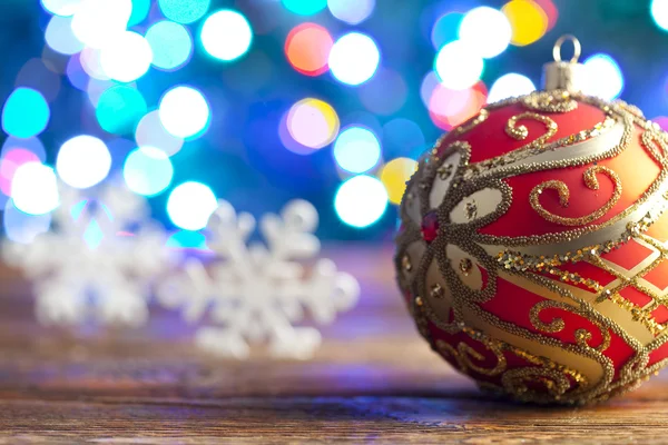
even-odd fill
[{"label": "round white light touching the yellow light at the top edge", "polygon": [[480,57],[499,56],[510,44],[512,28],[503,12],[488,7],[470,10],[460,24],[459,38]]}]

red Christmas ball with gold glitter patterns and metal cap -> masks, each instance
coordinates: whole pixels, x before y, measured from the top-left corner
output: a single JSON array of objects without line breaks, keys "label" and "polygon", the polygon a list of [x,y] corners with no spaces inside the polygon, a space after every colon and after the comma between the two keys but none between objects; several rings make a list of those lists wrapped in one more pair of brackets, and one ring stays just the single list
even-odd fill
[{"label": "red Christmas ball with gold glitter patterns and metal cap", "polygon": [[668,360],[668,135],[580,92],[562,41],[544,90],[422,157],[395,266],[422,336],[482,388],[583,404]]}]

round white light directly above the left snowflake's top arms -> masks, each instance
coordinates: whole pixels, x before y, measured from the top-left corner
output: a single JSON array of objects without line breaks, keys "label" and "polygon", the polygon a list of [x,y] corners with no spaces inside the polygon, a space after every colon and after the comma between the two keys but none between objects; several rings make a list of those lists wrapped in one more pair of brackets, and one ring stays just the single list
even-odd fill
[{"label": "round white light directly above the left snowflake's top arms", "polygon": [[111,155],[100,139],[77,136],[66,141],[56,159],[56,171],[75,188],[88,188],[102,181],[111,168]]}]

